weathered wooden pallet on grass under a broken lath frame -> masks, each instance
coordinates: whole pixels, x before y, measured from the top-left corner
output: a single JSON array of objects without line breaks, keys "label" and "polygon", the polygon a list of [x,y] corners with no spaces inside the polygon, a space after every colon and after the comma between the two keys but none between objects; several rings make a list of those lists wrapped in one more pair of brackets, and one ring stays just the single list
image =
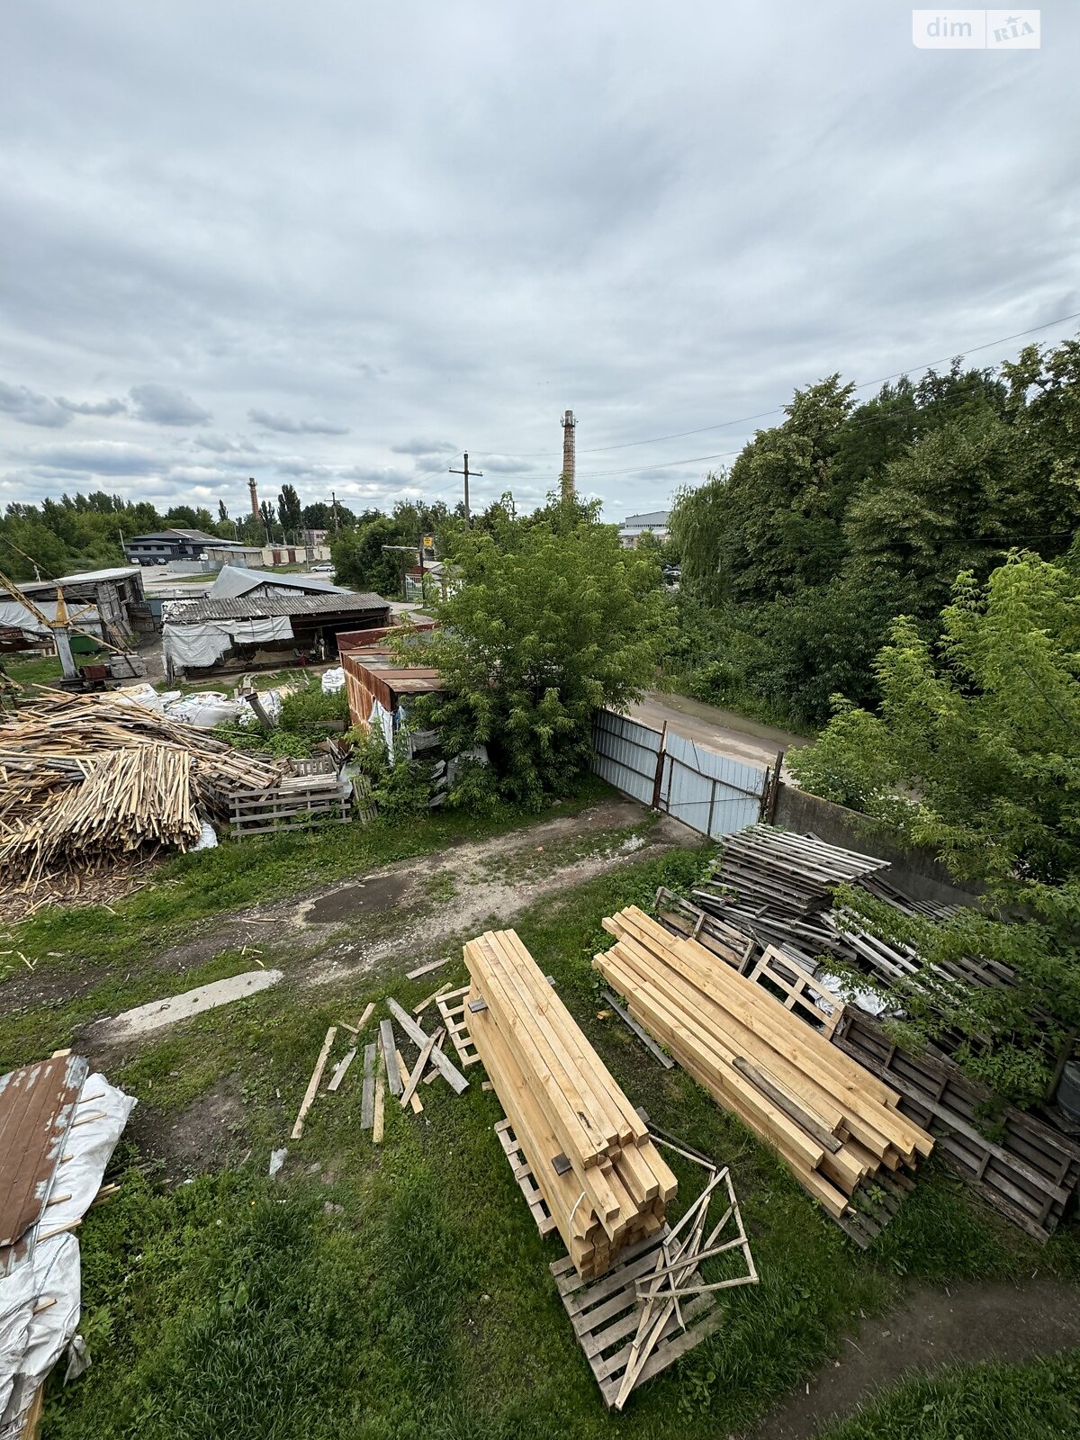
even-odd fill
[{"label": "weathered wooden pallet on grass under a broken lath frame", "polygon": [[[582,1280],[569,1256],[553,1261],[549,1267],[608,1410],[612,1410],[618,1400],[622,1374],[631,1358],[638,1329],[641,1316],[638,1280],[648,1279],[657,1269],[668,1234],[670,1230],[664,1225],[652,1238],[625,1250],[619,1264],[599,1280]],[[681,1329],[675,1316],[671,1316],[657,1348],[638,1375],[635,1388],[707,1339],[723,1318],[724,1310],[716,1293],[697,1295],[687,1302],[683,1306],[687,1329]]]}]

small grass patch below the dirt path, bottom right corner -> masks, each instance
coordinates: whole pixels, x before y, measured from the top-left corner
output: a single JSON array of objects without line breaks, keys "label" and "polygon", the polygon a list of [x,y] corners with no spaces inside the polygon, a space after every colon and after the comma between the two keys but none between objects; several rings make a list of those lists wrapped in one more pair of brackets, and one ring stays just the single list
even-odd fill
[{"label": "small grass patch below the dirt path, bottom right corner", "polygon": [[1080,1351],[965,1365],[888,1390],[822,1440],[1066,1440],[1080,1434]]}]

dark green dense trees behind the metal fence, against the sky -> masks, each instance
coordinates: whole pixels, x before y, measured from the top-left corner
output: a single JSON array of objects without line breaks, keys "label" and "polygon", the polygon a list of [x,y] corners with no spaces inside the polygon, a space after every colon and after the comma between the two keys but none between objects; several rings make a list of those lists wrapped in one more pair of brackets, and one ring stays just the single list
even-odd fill
[{"label": "dark green dense trees behind the metal fence, against the sky", "polygon": [[878,698],[897,615],[927,641],[960,572],[1014,546],[1053,559],[1080,524],[1080,341],[995,374],[796,390],[730,471],[671,514],[683,566],[670,667],[700,698],[818,724],[831,697]]}]

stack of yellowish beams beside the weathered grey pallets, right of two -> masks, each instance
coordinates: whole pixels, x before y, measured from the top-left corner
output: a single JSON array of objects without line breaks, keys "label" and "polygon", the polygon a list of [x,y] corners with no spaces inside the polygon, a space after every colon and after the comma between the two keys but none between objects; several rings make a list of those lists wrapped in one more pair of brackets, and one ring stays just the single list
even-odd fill
[{"label": "stack of yellowish beams beside the weathered grey pallets, right of two", "polygon": [[933,1139],[897,1112],[894,1090],[711,950],[636,906],[603,927],[618,943],[593,966],[634,1020],[768,1140],[835,1220],[864,1181],[930,1153]]}]

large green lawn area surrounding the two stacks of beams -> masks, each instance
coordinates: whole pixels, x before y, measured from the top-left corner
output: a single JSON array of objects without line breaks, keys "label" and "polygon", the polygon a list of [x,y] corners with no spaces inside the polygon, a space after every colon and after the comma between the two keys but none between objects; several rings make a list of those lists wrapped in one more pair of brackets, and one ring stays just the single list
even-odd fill
[{"label": "large green lawn area surrounding the two stacks of beams", "polygon": [[[455,959],[435,975],[353,972],[314,991],[282,982],[114,1071],[158,1119],[232,1077],[243,1102],[236,1143],[251,1159],[174,1189],[128,1169],[121,1192],[86,1217],[95,1364],[75,1385],[52,1381],[50,1440],[729,1436],[834,1354],[860,1310],[899,1299],[909,1277],[1080,1274],[1074,1234],[1038,1248],[936,1165],[876,1247],[857,1251],[770,1151],[680,1070],[661,1070],[616,1018],[599,1018],[590,959],[611,943],[602,917],[648,904],[661,883],[691,883],[700,864],[693,850],[626,864],[516,922],[631,1099],[732,1165],[762,1283],[727,1293],[724,1326],[677,1374],[644,1388],[624,1416],[606,1414],[547,1270],[562,1247],[539,1237],[491,1133],[497,1099],[478,1083],[461,1097],[441,1081],[423,1086],[419,1117],[389,1104],[386,1142],[374,1148],[359,1128],[354,1071],[288,1142],[284,1178],[264,1178],[327,1025],[354,1022],[386,994],[412,1007],[436,981],[459,982],[459,950],[444,942],[433,955]],[[413,956],[400,956],[399,971],[405,959]],[[685,1202],[700,1172],[677,1174]]]}]

